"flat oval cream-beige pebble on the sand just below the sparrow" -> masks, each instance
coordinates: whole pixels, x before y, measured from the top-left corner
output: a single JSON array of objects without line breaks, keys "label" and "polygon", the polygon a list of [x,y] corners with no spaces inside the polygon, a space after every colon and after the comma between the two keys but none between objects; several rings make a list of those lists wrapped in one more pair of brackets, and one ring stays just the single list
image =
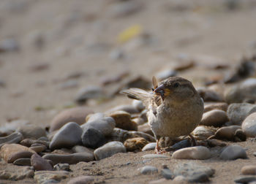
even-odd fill
[{"label": "flat oval cream-beige pebble on the sand just below the sparrow", "polygon": [[180,150],[176,150],[173,153],[172,158],[175,159],[195,159],[195,160],[206,160],[211,157],[211,152],[207,147],[195,146],[185,147]]}]

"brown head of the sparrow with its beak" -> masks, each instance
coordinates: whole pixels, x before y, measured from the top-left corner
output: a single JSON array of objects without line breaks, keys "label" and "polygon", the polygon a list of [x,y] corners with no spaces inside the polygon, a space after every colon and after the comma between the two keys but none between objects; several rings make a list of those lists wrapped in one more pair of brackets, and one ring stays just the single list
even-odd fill
[{"label": "brown head of the sparrow with its beak", "polygon": [[169,77],[159,83],[154,93],[162,97],[162,100],[183,101],[197,93],[189,80],[182,77]]}]

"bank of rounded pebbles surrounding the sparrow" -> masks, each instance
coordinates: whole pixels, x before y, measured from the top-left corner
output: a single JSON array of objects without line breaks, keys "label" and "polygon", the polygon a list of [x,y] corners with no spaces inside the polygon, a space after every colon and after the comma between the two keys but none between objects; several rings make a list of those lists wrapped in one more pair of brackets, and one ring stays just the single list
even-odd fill
[{"label": "bank of rounded pebbles surrounding the sparrow", "polygon": [[[236,83],[234,83],[236,82]],[[160,145],[167,147],[164,155],[145,154],[143,159],[171,158],[188,160],[219,159],[233,161],[248,158],[248,151],[237,143],[256,136],[256,79],[238,78],[232,85],[214,84],[197,91],[205,101],[200,125],[192,132],[197,146],[187,137],[173,141],[162,137]],[[58,183],[69,177],[69,164],[99,161],[116,153],[149,151],[156,145],[147,123],[146,109],[141,101],[114,107],[108,112],[92,112],[88,107],[74,107],[60,112],[50,123],[50,129],[24,124],[15,132],[1,132],[1,164],[24,166],[18,172],[4,171],[1,180],[23,180],[34,177],[37,183]],[[256,156],[256,153],[255,153]],[[193,163],[178,164],[171,171],[163,166],[138,168],[140,175],[159,173],[162,179],[176,182],[206,182],[214,169]],[[256,166],[241,168],[236,183],[256,181]],[[72,178],[70,183],[93,183],[93,176]]]}]

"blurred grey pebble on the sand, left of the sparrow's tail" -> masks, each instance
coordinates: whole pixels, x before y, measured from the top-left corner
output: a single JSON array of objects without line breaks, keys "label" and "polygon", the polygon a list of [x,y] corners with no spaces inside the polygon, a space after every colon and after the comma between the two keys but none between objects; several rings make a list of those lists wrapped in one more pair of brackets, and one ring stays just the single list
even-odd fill
[{"label": "blurred grey pebble on the sand, left of the sparrow's tail", "polygon": [[80,88],[76,94],[75,101],[78,104],[84,104],[89,99],[100,99],[105,97],[103,89],[99,86],[86,86]]}]

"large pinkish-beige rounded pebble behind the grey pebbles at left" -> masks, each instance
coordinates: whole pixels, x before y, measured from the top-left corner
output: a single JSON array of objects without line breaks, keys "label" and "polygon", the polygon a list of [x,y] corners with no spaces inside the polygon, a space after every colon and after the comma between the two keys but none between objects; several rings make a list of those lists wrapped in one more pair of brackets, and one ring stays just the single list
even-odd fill
[{"label": "large pinkish-beige rounded pebble behind the grey pebbles at left", "polygon": [[64,110],[56,115],[50,123],[50,132],[56,131],[66,123],[75,122],[81,125],[85,122],[86,116],[91,114],[92,110],[87,107],[74,107],[69,110]]}]

